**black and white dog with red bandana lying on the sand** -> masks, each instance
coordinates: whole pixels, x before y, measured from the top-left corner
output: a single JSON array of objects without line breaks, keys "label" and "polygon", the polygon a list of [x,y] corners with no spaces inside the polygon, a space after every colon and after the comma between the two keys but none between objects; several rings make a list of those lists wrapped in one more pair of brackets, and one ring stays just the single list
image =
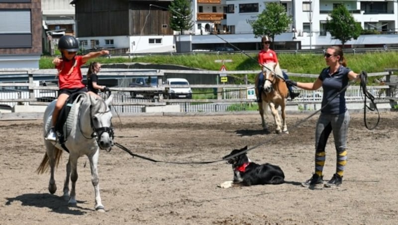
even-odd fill
[{"label": "black and white dog with red bandana lying on the sand", "polygon": [[258,184],[282,184],[285,182],[285,174],[279,166],[266,164],[257,164],[252,162],[245,153],[232,158],[232,155],[247,150],[247,146],[242,149],[234,149],[224,157],[228,164],[232,164],[233,181],[225,181],[219,184],[220,188],[230,188],[232,186],[251,186]]}]

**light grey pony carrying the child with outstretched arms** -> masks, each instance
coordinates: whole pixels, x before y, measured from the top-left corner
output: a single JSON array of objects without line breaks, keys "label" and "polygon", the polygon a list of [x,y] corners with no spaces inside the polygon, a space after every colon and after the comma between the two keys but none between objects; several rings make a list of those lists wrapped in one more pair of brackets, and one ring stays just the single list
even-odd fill
[{"label": "light grey pony carrying the child with outstretched arms", "polygon": [[[100,187],[98,178],[98,159],[100,149],[110,149],[113,145],[113,129],[111,125],[112,113],[109,110],[109,104],[113,96],[104,101],[93,97],[88,93],[81,93],[74,101],[68,118],[65,122],[67,129],[64,143],[69,150],[69,160],[66,165],[66,179],[64,183],[65,200],[68,200],[69,206],[76,206],[76,181],[78,179],[77,162],[78,158],[87,155],[90,160],[91,180],[96,195],[95,209],[105,212],[101,203]],[[51,117],[54,111],[56,100],[48,105],[44,112],[44,136],[51,127]],[[44,140],[46,153],[37,168],[37,173],[44,173],[50,166],[50,181],[48,191],[54,194],[57,190],[54,179],[54,167],[58,166],[62,153],[62,146],[57,142]],[[69,194],[69,178],[72,182],[71,192]]]}]

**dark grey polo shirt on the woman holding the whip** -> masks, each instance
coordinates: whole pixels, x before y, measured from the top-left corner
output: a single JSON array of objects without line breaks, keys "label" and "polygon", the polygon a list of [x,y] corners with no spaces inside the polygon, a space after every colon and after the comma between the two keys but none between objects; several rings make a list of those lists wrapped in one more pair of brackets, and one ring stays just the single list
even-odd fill
[{"label": "dark grey polo shirt on the woman holding the whip", "polygon": [[323,88],[322,108],[330,101],[330,103],[322,109],[321,112],[328,114],[341,114],[347,111],[345,104],[346,90],[338,94],[333,100],[332,98],[336,93],[340,92],[348,85],[348,73],[351,69],[340,65],[334,74],[329,75],[329,71],[330,67],[323,69],[318,77],[319,80],[322,81]]}]

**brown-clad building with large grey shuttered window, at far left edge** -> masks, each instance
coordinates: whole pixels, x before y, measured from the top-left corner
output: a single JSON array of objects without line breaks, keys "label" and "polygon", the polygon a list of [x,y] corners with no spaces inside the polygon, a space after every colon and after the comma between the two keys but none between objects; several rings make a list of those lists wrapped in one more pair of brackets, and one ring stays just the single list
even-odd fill
[{"label": "brown-clad building with large grey shuttered window, at far left edge", "polygon": [[0,69],[39,68],[41,0],[0,0]]}]

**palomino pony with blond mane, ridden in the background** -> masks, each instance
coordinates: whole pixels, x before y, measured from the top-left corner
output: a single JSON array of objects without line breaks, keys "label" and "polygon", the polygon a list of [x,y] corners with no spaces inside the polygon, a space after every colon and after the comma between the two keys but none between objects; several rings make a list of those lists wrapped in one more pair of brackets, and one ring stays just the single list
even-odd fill
[{"label": "palomino pony with blond mane, ridden in the background", "polygon": [[[271,109],[271,113],[274,116],[276,133],[289,133],[288,126],[286,124],[285,112],[286,99],[288,97],[289,91],[283,79],[283,74],[281,68],[279,67],[279,63],[275,67],[275,71],[273,70],[274,65],[274,63],[268,63],[265,65],[266,68],[269,68],[270,70],[267,69],[266,73],[264,74],[263,84],[261,85],[261,93],[258,93],[259,90],[257,88],[260,74],[256,76],[255,80],[256,96],[259,97],[259,95],[261,95],[262,99],[262,101],[258,103],[258,108],[261,115],[261,124],[263,126],[263,129],[268,132],[268,126],[264,120],[264,112],[266,113],[266,115],[268,114],[267,107],[269,106],[269,108]],[[278,113],[279,107],[281,107],[281,115],[283,121],[281,121],[281,117]]]}]

